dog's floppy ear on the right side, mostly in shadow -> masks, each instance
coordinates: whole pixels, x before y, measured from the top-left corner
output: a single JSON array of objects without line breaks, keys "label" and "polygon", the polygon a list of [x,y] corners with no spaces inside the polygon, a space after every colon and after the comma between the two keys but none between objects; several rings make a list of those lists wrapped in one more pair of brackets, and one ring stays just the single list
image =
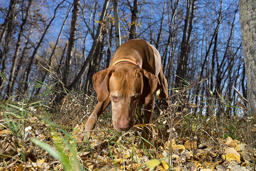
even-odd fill
[{"label": "dog's floppy ear on the right side, mostly in shadow", "polygon": [[139,101],[147,105],[154,93],[156,92],[157,87],[157,77],[151,72],[146,71],[145,69],[137,69],[137,74],[140,77],[141,81],[141,92]]}]

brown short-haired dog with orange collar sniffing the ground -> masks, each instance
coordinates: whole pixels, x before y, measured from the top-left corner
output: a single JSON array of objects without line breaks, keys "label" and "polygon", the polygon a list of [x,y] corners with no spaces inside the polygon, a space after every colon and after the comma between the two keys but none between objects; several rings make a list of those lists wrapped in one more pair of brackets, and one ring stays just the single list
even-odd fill
[{"label": "brown short-haired dog with orange collar sniffing the ground", "polygon": [[[122,44],[111,59],[109,68],[97,72],[92,79],[98,104],[76,135],[76,140],[80,142],[85,140],[83,131],[94,129],[99,116],[110,103],[114,128],[126,131],[134,126],[137,105],[140,114],[142,105],[146,105],[144,123],[151,123],[154,93],[162,89],[160,98],[164,100],[168,97],[160,54],[154,46],[141,39]],[[167,101],[164,105],[168,104]],[[90,134],[87,133],[87,136],[89,138]]]}]

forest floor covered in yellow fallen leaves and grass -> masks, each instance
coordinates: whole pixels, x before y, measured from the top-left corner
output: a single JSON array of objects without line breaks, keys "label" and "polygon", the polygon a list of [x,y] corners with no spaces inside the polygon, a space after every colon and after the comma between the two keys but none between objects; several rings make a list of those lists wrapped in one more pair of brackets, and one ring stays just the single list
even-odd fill
[{"label": "forest floor covered in yellow fallen leaves and grass", "polygon": [[[157,110],[152,124],[136,123],[128,132],[113,129],[110,106],[81,146],[75,133],[93,111],[95,97],[74,93],[58,105],[29,96],[22,102],[2,101],[0,171],[255,171],[256,150],[245,144],[244,127],[250,122],[242,116],[245,109],[219,99],[215,102],[222,108],[208,103],[195,113],[196,106],[184,97],[172,103],[169,115]],[[148,141],[141,137],[145,127],[151,130]]]}]

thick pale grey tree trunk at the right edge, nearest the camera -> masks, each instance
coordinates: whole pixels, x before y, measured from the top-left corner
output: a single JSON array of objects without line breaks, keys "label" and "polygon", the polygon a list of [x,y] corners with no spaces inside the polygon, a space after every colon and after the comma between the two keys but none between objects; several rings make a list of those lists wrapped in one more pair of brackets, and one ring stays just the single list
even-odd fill
[{"label": "thick pale grey tree trunk at the right edge, nearest the camera", "polygon": [[256,3],[254,0],[239,0],[242,43],[247,80],[248,120],[247,142],[256,147]]}]

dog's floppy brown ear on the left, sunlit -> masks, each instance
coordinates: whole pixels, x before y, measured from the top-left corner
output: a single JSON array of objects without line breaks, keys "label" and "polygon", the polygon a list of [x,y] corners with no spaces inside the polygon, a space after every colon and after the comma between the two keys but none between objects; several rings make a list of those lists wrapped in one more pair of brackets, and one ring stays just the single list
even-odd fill
[{"label": "dog's floppy brown ear on the left, sunlit", "polygon": [[110,67],[95,73],[92,77],[93,88],[99,102],[104,102],[109,96],[109,78],[114,71],[115,69]]}]

